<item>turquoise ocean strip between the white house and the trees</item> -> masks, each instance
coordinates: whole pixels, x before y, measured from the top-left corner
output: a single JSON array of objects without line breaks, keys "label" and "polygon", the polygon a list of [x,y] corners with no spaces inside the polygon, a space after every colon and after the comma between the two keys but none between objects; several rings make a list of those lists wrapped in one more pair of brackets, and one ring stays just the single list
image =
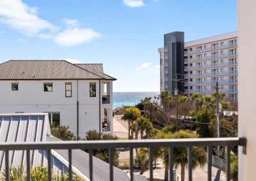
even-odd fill
[{"label": "turquoise ocean strip between the white house and the trees", "polygon": [[159,92],[113,92],[113,109],[122,106],[134,106],[146,97],[158,96]]}]

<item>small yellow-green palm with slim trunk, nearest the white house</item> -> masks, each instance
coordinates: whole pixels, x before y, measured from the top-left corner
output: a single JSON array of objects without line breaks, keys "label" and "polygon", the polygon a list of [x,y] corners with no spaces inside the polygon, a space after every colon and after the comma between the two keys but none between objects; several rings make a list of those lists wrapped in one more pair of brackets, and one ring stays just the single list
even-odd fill
[{"label": "small yellow-green palm with slim trunk, nearest the white house", "polygon": [[[130,135],[131,138],[133,140],[133,131],[131,130],[131,124],[134,122],[134,120],[137,120],[138,117],[140,117],[141,113],[140,110],[136,107],[130,107],[127,108],[124,112],[124,115],[122,117],[122,119],[127,120],[128,121],[128,138],[130,139]],[[131,132],[131,134],[130,134]]]}]

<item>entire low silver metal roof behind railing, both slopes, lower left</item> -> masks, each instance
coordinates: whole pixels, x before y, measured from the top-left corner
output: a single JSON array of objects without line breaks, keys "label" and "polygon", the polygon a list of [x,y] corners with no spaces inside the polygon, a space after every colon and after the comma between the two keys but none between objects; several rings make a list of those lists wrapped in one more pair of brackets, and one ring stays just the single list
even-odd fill
[{"label": "entire low silver metal roof behind railing, both slopes, lower left", "polygon": [[[26,141],[61,141],[51,136],[47,113],[13,113],[0,114],[0,143]],[[52,169],[63,171],[68,166],[68,150],[52,150]],[[26,168],[26,152],[14,150],[9,152],[10,164],[16,168],[21,164]],[[45,150],[31,150],[31,165],[47,166],[47,152]],[[5,168],[4,152],[0,151],[0,171]],[[72,168],[74,173],[84,178],[90,177],[89,154],[80,149],[72,150]],[[60,173],[60,172],[58,172]],[[114,180],[130,180],[127,173],[113,167]],[[109,164],[93,157],[93,180],[109,180]],[[145,181],[142,175],[134,176],[135,181]]]}]

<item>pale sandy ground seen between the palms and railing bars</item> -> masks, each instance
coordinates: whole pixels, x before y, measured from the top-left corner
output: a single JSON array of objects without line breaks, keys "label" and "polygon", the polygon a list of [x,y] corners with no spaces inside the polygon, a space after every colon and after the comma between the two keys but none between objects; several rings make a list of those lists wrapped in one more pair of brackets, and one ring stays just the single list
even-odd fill
[{"label": "pale sandy ground seen between the palms and railing bars", "polygon": [[[119,138],[128,138],[128,124],[122,120],[122,115],[116,115],[113,117],[113,134],[116,134]],[[135,150],[134,150],[135,156]],[[129,151],[120,152],[120,159],[129,159]],[[128,170],[127,170],[128,171]],[[135,171],[135,174],[140,174],[140,171]],[[156,169],[153,171],[154,178],[164,179],[164,166],[160,162],[157,162]],[[147,178],[149,178],[149,171],[143,173]],[[177,169],[177,177],[180,180],[180,168]],[[188,180],[188,170],[185,171],[185,180]],[[193,171],[193,180],[204,181],[207,180],[207,166],[204,168],[197,168]],[[212,166],[212,180],[222,181],[226,180],[225,173],[218,168]]]}]

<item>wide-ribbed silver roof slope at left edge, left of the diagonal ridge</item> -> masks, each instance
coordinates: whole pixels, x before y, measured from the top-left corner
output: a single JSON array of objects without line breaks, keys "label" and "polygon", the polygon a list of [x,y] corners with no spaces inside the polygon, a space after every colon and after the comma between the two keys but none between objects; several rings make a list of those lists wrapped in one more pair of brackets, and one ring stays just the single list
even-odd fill
[{"label": "wide-ribbed silver roof slope at left edge, left of the diagonal ridge", "polygon": [[[46,113],[0,114],[0,142],[46,141],[49,132],[49,119]],[[50,133],[51,134],[51,133]],[[10,163],[14,166],[26,164],[26,152],[9,152]],[[0,151],[0,170],[4,168],[4,152]],[[40,150],[31,151],[31,165],[44,163]]]}]

